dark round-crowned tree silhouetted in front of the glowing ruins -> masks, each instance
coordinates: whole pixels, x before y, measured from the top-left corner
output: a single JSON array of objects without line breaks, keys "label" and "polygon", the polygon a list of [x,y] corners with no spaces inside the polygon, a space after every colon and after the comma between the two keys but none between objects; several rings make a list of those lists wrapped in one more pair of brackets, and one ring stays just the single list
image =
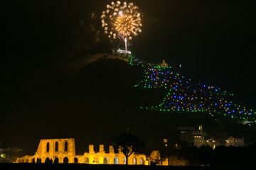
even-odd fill
[{"label": "dark round-crowned tree silhouetted in front of the glowing ruins", "polygon": [[134,152],[142,152],[145,147],[143,140],[129,132],[122,132],[119,136],[115,137],[114,146],[121,149],[121,152],[127,159],[126,165],[128,164],[129,156]]}]

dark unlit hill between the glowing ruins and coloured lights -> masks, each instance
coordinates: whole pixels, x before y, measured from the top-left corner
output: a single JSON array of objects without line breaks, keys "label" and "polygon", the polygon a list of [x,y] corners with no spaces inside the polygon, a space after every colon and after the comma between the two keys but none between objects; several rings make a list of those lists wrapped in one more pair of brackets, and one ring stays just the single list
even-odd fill
[{"label": "dark unlit hill between the glowing ruins and coloured lights", "polygon": [[[134,132],[145,142],[161,142],[163,138],[177,142],[176,127],[180,125],[202,123],[210,132],[232,131],[229,127],[238,127],[223,120],[223,129],[218,121],[203,113],[141,110],[140,106],[158,104],[166,94],[164,89],[135,88],[143,78],[144,69],[122,60],[92,62],[73,77],[28,91],[16,108],[12,108],[12,112],[20,114],[9,115],[11,123],[6,123],[4,135],[16,136],[17,140],[10,141],[9,145],[29,153],[36,151],[42,138],[75,137],[78,152],[82,153],[89,144],[94,144],[96,149],[100,144],[110,145],[124,130]],[[239,127],[240,134],[253,132]],[[253,137],[250,140],[254,140]]]}]

